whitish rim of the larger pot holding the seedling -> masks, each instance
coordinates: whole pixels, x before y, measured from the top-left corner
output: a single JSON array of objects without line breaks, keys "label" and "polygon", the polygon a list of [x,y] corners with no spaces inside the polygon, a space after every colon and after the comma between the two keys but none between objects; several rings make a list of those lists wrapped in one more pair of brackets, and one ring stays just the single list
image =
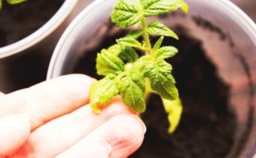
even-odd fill
[{"label": "whitish rim of the larger pot holding the seedling", "polygon": [[[90,5],[87,6],[87,8],[81,11],[81,13],[78,14],[77,17],[75,17],[72,23],[69,24],[69,26],[59,39],[59,42],[53,52],[53,56],[50,59],[50,65],[47,71],[47,80],[56,77],[55,71],[56,68],[58,68],[57,65],[59,63],[59,59],[62,57],[62,52],[60,50],[62,49],[63,44],[66,43],[66,39],[69,38],[69,35],[73,32],[78,23],[83,20],[84,16],[90,13],[90,11],[92,11],[98,5],[101,5],[102,2],[105,2],[105,0],[97,0],[92,2]],[[227,0],[218,0],[215,1],[215,3],[223,6],[227,10],[227,12],[230,12],[232,18],[239,20],[239,25],[245,28],[249,37],[252,39],[254,45],[256,46],[256,24],[250,19],[250,17],[248,17],[248,15],[245,14],[245,12],[243,12],[239,7],[234,5],[233,2]]]}]

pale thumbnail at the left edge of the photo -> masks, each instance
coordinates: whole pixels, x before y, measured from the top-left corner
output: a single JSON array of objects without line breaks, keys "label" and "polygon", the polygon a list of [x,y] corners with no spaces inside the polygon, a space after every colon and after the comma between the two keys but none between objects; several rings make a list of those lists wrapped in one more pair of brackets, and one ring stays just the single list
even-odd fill
[{"label": "pale thumbnail at the left edge of the photo", "polygon": [[0,127],[20,126],[21,124],[29,123],[29,121],[28,114],[13,114],[7,117],[0,117]]}]

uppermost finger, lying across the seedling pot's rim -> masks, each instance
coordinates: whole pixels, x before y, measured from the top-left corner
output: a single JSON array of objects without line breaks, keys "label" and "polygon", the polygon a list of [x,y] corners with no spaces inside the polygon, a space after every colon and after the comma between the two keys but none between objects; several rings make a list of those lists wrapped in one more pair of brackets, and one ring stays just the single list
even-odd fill
[{"label": "uppermost finger, lying across the seedling pot's rim", "polygon": [[0,98],[0,117],[29,114],[33,130],[87,104],[94,81],[82,74],[71,74],[8,94]]}]

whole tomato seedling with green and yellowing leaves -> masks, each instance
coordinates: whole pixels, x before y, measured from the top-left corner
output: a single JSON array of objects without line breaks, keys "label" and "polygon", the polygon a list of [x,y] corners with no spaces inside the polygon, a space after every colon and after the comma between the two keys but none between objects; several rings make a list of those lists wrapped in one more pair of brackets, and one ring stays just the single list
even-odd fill
[{"label": "whole tomato seedling with green and yellowing leaves", "polygon": [[[141,29],[117,39],[117,44],[98,53],[96,70],[105,77],[90,88],[90,106],[96,114],[101,112],[100,107],[107,105],[118,94],[129,108],[142,113],[149,93],[157,93],[169,114],[169,123],[172,124],[169,132],[174,131],[182,107],[175,78],[171,74],[172,65],[165,59],[175,56],[178,50],[171,46],[161,47],[161,44],[164,36],[178,40],[178,35],[157,21],[146,23],[146,18],[178,8],[188,11],[183,0],[120,0],[114,5],[113,23],[123,29],[140,23]],[[149,35],[160,36],[153,47]],[[141,53],[143,55],[139,56]]]}]

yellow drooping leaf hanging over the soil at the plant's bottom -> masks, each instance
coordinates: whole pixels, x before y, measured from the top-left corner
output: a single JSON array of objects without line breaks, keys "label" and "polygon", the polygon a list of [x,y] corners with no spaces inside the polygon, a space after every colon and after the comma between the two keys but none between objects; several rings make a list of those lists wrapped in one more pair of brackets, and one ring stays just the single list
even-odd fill
[{"label": "yellow drooping leaf hanging over the soil at the plant's bottom", "polygon": [[181,99],[175,99],[173,101],[163,99],[163,107],[168,114],[169,120],[169,133],[175,131],[181,120],[182,104]]}]

